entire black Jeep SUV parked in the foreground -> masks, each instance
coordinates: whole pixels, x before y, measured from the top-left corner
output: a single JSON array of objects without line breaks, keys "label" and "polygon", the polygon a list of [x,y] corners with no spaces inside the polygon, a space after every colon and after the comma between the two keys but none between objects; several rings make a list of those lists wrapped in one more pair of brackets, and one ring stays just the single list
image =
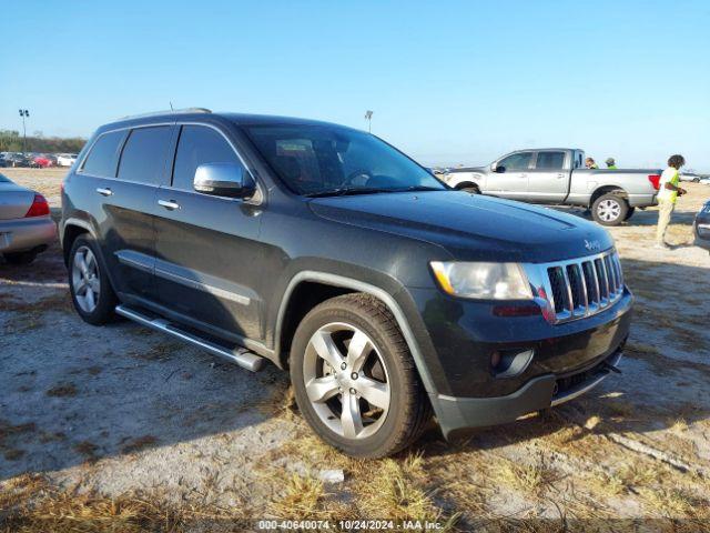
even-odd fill
[{"label": "entire black Jeep SUV parked in the foreground", "polygon": [[60,232],[77,312],[288,369],[325,441],[377,457],[576,398],[621,355],[609,234],[454,191],[381,139],[187,110],[101,127]]}]

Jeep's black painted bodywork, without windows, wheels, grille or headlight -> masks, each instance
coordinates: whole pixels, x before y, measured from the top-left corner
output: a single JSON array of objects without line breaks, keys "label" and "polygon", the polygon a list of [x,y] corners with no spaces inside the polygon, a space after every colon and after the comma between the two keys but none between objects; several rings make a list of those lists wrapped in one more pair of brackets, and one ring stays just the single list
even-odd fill
[{"label": "Jeep's black painted bodywork, without windows, wheels, grille or headlight", "polygon": [[[602,251],[613,247],[602,228],[548,209],[454,190],[297,195],[243,129],[282,123],[320,124],[216,113],[108,124],[89,141],[65,180],[60,228],[64,234],[72,225],[94,233],[122,300],[210,334],[239,339],[276,364],[283,361],[280,334],[294,280],[382,294],[403,329],[435,410],[443,395],[506,396],[532,382],[544,382],[535,388],[549,399],[550,379],[594,364],[623,344],[632,304],[628,291],[599,314],[552,325],[542,315],[494,316],[490,303],[448,296],[429,270],[432,261],[547,263],[581,258],[589,254],[587,241]],[[158,184],[81,171],[81,161],[102,133],[153,124],[173,129]],[[181,124],[204,124],[227,139],[257,183],[257,198],[172,189]],[[95,192],[108,188],[113,192],[109,197]],[[179,208],[166,209],[159,201]],[[515,379],[495,378],[490,353],[517,348],[536,350],[531,364]],[[439,418],[445,415],[440,409]]]}]

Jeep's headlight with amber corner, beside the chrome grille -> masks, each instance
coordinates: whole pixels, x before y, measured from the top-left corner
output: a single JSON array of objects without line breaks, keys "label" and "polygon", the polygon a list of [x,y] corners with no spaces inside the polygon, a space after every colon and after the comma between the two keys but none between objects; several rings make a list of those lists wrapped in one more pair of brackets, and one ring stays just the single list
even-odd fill
[{"label": "Jeep's headlight with amber corner, beside the chrome grille", "polygon": [[454,296],[477,300],[531,300],[532,291],[518,263],[432,261],[442,289]]}]

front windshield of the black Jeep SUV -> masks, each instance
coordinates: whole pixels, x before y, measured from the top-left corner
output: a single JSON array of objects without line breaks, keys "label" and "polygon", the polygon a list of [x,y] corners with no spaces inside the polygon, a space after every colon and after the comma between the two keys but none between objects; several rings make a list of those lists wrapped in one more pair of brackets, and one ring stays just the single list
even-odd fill
[{"label": "front windshield of the black Jeep SUV", "polygon": [[255,125],[246,132],[298,194],[446,189],[425,169],[368,133],[329,125]]}]

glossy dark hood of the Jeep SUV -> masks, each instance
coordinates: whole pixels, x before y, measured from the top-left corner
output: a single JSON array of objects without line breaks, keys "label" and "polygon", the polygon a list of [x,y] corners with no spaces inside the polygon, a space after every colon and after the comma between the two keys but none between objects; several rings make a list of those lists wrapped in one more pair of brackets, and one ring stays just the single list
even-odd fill
[{"label": "glossy dark hood of the Jeep SUV", "polygon": [[459,191],[310,201],[322,218],[444,247],[460,261],[547,262],[613,247],[594,222],[551,209]]}]

